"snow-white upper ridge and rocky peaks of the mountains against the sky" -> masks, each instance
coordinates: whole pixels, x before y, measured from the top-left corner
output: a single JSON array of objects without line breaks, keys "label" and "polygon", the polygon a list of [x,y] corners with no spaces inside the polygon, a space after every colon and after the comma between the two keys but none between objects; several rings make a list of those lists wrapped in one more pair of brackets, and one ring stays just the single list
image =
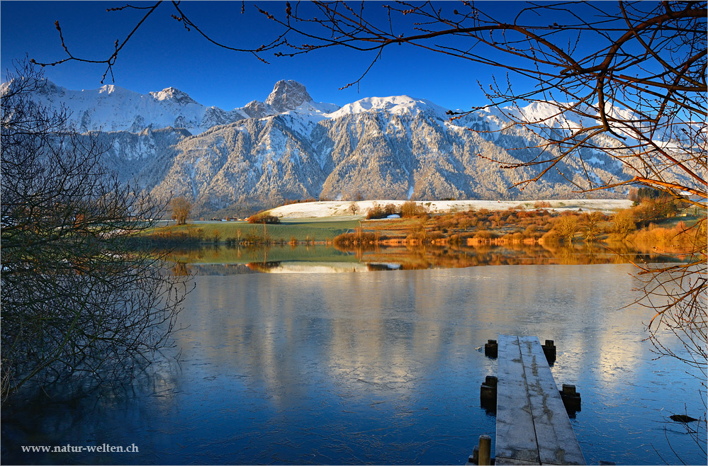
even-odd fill
[{"label": "snow-white upper ridge and rocky peaks of the mountains against the sky", "polygon": [[[318,103],[303,84],[292,80],[276,82],[265,101],[251,101],[233,110],[204,106],[194,101],[189,94],[174,87],[147,94],[113,84],[106,84],[99,89],[73,91],[57,86],[47,79],[43,82],[42,90],[36,94],[35,100],[48,106],[63,104],[70,113],[69,123],[84,131],[140,132],[145,127],[184,127],[192,135],[197,135],[213,126],[227,125],[245,118],[260,119],[281,114],[299,116],[312,122],[359,113],[415,115],[423,112],[441,120],[449,119],[446,108],[424,98],[405,95],[361,98],[341,108],[333,103]],[[558,110],[554,106],[543,103],[529,104],[521,108],[520,112],[519,109],[511,107],[502,108],[501,111],[483,110],[476,113],[476,118],[471,120],[488,120],[492,130],[499,130],[509,123],[502,112],[515,118],[536,120],[549,127],[578,127],[583,123],[592,123],[569,120],[568,115],[558,116]],[[469,120],[469,117],[463,118],[459,120],[459,125],[466,126]]]}]

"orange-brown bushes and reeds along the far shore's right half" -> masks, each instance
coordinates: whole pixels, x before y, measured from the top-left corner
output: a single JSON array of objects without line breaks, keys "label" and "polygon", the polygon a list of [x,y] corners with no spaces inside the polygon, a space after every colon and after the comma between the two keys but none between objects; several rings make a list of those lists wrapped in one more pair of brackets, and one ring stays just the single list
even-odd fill
[{"label": "orange-brown bushes and reeds along the far shore's right half", "polygon": [[[404,204],[405,206],[405,204]],[[403,207],[403,206],[402,206]],[[633,208],[612,215],[602,212],[549,209],[539,202],[535,210],[466,210],[429,215],[417,210],[375,206],[371,219],[354,232],[335,237],[337,246],[367,245],[467,245],[569,244],[573,241],[629,241],[664,248],[670,252],[692,249],[706,234],[706,211],[682,209],[680,204],[653,199],[638,200]],[[401,218],[376,220],[388,215]],[[688,227],[700,222],[699,229]],[[702,235],[702,238],[701,238]]]}]

